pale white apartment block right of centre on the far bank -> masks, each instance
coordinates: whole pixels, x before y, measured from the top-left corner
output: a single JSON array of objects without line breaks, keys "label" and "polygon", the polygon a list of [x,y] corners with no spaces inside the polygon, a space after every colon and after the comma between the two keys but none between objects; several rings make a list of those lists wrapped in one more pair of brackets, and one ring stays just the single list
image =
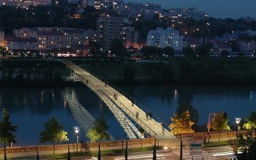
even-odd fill
[{"label": "pale white apartment block right of centre on the far bank", "polygon": [[160,48],[170,46],[174,50],[182,50],[182,39],[183,36],[179,35],[179,31],[172,27],[168,27],[166,30],[157,28],[157,30],[150,30],[147,34],[146,45]]}]

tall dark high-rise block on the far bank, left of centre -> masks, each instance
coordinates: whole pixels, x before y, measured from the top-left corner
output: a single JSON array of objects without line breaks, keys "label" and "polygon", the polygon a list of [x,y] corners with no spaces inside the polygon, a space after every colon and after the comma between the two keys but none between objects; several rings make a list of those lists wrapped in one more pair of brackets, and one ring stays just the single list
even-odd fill
[{"label": "tall dark high-rise block on the far bank, left of centre", "polygon": [[110,51],[110,43],[114,38],[125,40],[125,19],[123,17],[102,16],[97,18],[97,41],[103,52]]}]

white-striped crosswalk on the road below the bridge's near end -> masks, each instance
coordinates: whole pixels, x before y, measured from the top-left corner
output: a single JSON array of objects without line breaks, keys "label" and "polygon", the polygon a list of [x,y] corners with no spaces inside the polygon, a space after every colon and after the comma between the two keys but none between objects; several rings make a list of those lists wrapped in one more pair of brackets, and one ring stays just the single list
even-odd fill
[{"label": "white-striped crosswalk on the road below the bridge's near end", "polygon": [[[180,150],[173,150],[174,154],[180,155]],[[182,159],[183,160],[218,160],[217,157],[214,157],[212,154],[208,154],[206,151],[201,150],[201,153],[198,155],[190,154],[190,150],[182,150]]]}]

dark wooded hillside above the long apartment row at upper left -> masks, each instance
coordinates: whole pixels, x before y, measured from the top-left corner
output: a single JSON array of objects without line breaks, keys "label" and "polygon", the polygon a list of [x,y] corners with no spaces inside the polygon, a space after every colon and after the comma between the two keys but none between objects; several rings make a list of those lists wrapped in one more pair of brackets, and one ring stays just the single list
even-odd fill
[{"label": "dark wooded hillside above the long apartment row at upper left", "polygon": [[66,6],[30,6],[28,10],[14,8],[12,6],[0,7],[0,28],[6,34],[22,27],[74,27],[96,29],[98,12],[94,7],[86,6],[82,13],[82,19],[70,18],[72,12],[77,12],[78,6],[67,4]]}]

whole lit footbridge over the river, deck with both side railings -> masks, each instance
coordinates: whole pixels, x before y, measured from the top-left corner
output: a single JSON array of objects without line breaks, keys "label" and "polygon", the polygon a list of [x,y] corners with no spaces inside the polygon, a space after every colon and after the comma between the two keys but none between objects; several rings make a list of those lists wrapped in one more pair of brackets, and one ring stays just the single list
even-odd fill
[{"label": "whole lit footbridge over the river, deck with both side railings", "polygon": [[[134,122],[138,124],[147,134],[158,140],[175,138],[170,134],[169,125],[158,118],[146,107],[131,98],[128,94],[118,89],[114,85],[100,80],[97,76],[90,74],[89,71],[83,70],[73,62],[62,61],[70,70],[71,77],[76,81],[81,81],[102,99],[103,102],[111,102],[117,106],[120,111],[125,113]],[[131,126],[134,127],[134,126]],[[137,132],[135,130],[135,132]]]}]

